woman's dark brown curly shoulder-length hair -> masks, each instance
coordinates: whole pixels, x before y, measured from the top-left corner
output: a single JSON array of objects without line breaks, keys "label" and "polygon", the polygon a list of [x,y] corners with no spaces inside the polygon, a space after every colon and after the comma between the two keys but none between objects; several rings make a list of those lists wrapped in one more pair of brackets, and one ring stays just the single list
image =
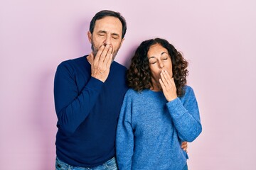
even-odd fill
[{"label": "woman's dark brown curly shoulder-length hair", "polygon": [[127,70],[127,84],[135,91],[142,91],[144,89],[150,89],[152,86],[151,71],[149,69],[149,59],[147,52],[151,45],[159,44],[166,48],[171,56],[172,72],[174,82],[176,84],[177,95],[183,96],[186,85],[186,77],[188,75],[188,62],[183,58],[181,52],[178,52],[174,45],[171,45],[167,40],[161,38],[155,38],[143,41],[134,56],[132,62]]}]

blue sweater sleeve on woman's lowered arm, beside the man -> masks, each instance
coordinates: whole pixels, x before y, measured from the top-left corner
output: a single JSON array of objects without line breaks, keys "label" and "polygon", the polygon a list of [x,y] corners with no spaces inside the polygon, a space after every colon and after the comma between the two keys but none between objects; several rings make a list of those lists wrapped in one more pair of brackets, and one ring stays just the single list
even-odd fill
[{"label": "blue sweater sleeve on woman's lowered arm, beside the man", "polygon": [[132,155],[134,150],[134,134],[132,130],[132,102],[126,95],[119,114],[117,125],[117,164],[120,170],[132,169]]}]

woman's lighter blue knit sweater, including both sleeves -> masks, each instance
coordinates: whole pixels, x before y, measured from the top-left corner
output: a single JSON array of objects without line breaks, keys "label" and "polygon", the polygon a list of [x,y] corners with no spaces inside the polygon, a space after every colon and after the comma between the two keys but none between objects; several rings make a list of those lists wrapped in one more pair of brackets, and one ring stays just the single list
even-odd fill
[{"label": "woman's lighter blue knit sweater, including both sleeves", "polygon": [[183,169],[181,142],[192,142],[202,131],[196,96],[190,86],[185,89],[170,102],[162,91],[127,91],[117,125],[119,170]]}]

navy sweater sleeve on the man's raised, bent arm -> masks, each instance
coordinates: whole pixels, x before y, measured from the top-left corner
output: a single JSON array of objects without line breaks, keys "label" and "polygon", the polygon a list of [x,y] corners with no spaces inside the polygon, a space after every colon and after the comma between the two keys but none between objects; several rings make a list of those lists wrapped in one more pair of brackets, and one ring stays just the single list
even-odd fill
[{"label": "navy sweater sleeve on the man's raised, bent arm", "polygon": [[75,73],[67,62],[60,64],[54,79],[55,110],[59,128],[66,135],[72,135],[87,118],[100,94],[102,81],[88,77],[82,91],[78,91]]}]

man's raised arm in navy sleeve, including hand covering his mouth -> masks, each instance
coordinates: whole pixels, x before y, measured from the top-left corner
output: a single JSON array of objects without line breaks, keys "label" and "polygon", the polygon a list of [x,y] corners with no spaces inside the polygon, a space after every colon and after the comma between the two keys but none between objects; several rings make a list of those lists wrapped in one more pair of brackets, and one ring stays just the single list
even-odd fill
[{"label": "man's raised arm in navy sleeve, including hand covering his mouth", "polygon": [[97,102],[97,96],[110,72],[112,47],[102,45],[97,55],[87,57],[91,64],[91,77],[88,77],[82,91],[78,91],[74,68],[68,62],[58,66],[54,81],[55,110],[58,125],[67,135],[72,135],[78,126],[87,118]]}]

